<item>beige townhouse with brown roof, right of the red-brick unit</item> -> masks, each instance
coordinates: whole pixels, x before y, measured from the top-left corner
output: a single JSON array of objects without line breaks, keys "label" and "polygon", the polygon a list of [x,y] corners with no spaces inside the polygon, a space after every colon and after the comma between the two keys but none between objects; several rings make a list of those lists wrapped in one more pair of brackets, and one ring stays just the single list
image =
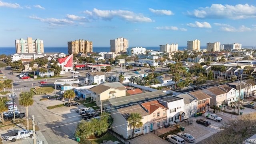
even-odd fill
[{"label": "beige townhouse with brown roof, right of the red-brick unit", "polygon": [[212,98],[210,99],[210,106],[222,106],[226,102],[227,91],[221,87],[214,86],[211,88],[206,88],[202,90],[204,93],[208,94]]}]

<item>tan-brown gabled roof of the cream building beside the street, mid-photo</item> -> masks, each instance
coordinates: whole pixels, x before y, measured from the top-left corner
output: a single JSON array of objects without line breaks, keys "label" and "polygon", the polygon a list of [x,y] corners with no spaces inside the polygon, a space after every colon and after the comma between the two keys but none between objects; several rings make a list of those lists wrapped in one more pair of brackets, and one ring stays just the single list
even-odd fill
[{"label": "tan-brown gabled roof of the cream building beside the street, mid-photo", "polygon": [[99,84],[98,86],[94,86],[90,88],[92,92],[96,92],[98,94],[101,94],[102,92],[105,92],[106,90],[109,90],[110,88],[114,88],[117,90],[126,90],[125,86],[122,85],[120,82],[112,82],[108,84]]}]

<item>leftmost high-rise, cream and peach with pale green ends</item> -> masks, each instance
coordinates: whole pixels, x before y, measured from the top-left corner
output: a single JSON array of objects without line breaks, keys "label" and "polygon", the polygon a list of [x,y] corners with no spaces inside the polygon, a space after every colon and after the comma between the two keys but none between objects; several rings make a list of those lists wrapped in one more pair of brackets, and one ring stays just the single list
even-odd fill
[{"label": "leftmost high-rise, cream and peach with pale green ends", "polygon": [[24,40],[21,38],[20,40],[15,40],[16,53],[38,53],[44,52],[44,41],[32,40],[32,38],[28,38],[28,40]]}]

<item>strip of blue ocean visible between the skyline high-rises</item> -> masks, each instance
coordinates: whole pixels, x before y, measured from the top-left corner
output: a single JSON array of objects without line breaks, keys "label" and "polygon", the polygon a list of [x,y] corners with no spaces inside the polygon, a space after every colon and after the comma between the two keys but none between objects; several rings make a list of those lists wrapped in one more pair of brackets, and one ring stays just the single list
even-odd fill
[{"label": "strip of blue ocean visible between the skyline high-rises", "polygon": [[[144,47],[147,50],[160,50],[159,46],[150,46]],[[187,48],[186,46],[179,46],[178,50],[184,50]],[[201,49],[205,49],[206,46],[201,46]],[[44,47],[44,52],[63,52],[64,54],[68,54],[67,47]],[[110,47],[93,47],[93,52],[110,52]],[[0,47],[0,54],[11,55],[16,53],[15,47]]]}]

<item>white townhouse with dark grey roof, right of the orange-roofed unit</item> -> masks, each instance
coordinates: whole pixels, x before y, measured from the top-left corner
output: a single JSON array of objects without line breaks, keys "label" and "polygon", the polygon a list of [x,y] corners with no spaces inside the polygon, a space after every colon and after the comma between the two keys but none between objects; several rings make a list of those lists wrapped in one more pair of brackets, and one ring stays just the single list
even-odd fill
[{"label": "white townhouse with dark grey roof, right of the orange-roofed unit", "polygon": [[158,99],[164,106],[168,106],[167,119],[168,123],[184,120],[185,113],[183,111],[184,100],[177,96],[168,96]]}]

